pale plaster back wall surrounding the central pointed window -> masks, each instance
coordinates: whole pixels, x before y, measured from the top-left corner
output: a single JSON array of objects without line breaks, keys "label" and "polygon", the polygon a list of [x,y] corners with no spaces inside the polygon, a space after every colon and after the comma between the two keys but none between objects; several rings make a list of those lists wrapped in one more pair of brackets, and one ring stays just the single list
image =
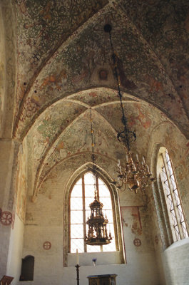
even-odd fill
[{"label": "pale plaster back wall surrounding the central pointed window", "polygon": [[[63,247],[67,246],[63,244],[63,232],[67,222],[63,221],[63,199],[69,177],[74,170],[88,162],[89,157],[90,154],[79,158],[73,157],[71,161],[65,162],[65,165],[59,164],[43,183],[36,203],[28,200],[22,257],[34,256],[34,281],[22,281],[19,284],[76,284],[76,268],[73,266],[76,264],[76,254],[71,254],[68,267],[63,267]],[[103,160],[98,158],[97,163],[103,169],[109,168],[109,174],[113,173],[113,169],[116,168],[116,163],[108,157],[106,159],[103,157]],[[138,206],[141,206],[141,209],[138,209]],[[127,221],[125,213],[128,215]],[[124,192],[121,195],[121,214],[124,216],[122,216],[123,243],[125,242],[126,246],[127,263],[120,264],[119,258],[116,257],[118,252],[115,254],[109,252],[107,255],[106,253],[79,254],[81,284],[88,284],[86,278],[88,275],[112,273],[118,274],[118,285],[159,284],[153,243],[149,242],[150,217],[148,209],[143,206],[141,196],[136,198],[133,193]],[[141,239],[141,247],[133,244],[136,238]],[[43,248],[46,241],[51,242],[49,250]],[[97,257],[96,267],[92,266],[93,257]]]}]

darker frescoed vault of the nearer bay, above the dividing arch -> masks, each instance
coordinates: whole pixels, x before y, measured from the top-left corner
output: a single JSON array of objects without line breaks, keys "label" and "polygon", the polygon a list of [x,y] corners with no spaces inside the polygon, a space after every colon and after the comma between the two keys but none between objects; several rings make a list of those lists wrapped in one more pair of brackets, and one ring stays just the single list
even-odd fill
[{"label": "darker frescoed vault of the nearer bay, above the dividing arch", "polygon": [[[103,31],[107,21],[113,26],[122,90],[155,105],[188,135],[186,6],[182,1],[97,2],[17,2],[16,138],[23,139],[39,114],[61,98],[98,86],[116,88],[108,34]],[[155,14],[158,6],[160,17]],[[145,24],[138,24],[137,15]],[[33,53],[40,54],[36,63],[31,63]]]}]

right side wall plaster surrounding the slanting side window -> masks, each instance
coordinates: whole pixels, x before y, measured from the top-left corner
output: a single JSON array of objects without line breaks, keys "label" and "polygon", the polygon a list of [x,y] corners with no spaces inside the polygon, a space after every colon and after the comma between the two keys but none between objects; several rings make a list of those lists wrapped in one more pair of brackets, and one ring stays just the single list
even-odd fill
[{"label": "right side wall plaster surrounding the slanting side window", "polygon": [[[156,175],[157,163],[155,157],[158,155],[155,150],[158,151],[160,146],[167,148],[173,162],[185,218],[188,223],[188,140],[172,123],[162,123],[153,130],[148,145],[148,158],[152,161],[150,168],[154,177]],[[158,195],[155,194],[157,192],[158,187],[155,186],[153,192],[151,190],[148,191],[148,198],[153,221],[155,259],[158,266],[160,284],[188,284],[188,239],[175,242],[166,249],[168,241],[166,242],[165,229],[163,230],[164,209],[157,200]]]}]

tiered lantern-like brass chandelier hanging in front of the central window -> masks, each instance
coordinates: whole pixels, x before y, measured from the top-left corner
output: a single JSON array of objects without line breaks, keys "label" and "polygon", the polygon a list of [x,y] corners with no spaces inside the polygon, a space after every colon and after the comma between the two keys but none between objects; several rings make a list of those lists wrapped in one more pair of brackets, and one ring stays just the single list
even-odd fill
[{"label": "tiered lantern-like brass chandelier hanging in front of the central window", "polygon": [[90,217],[86,221],[88,224],[88,235],[85,237],[85,242],[88,245],[104,245],[111,242],[111,232],[107,232],[108,219],[103,215],[103,204],[99,201],[98,188],[96,187],[96,182],[98,180],[98,173],[96,170],[98,168],[95,165],[96,157],[94,155],[94,140],[93,140],[93,125],[92,125],[92,114],[91,114],[91,145],[92,145],[92,155],[91,159],[93,162],[93,167],[88,167],[93,173],[94,178],[94,201],[89,205],[91,208]]}]

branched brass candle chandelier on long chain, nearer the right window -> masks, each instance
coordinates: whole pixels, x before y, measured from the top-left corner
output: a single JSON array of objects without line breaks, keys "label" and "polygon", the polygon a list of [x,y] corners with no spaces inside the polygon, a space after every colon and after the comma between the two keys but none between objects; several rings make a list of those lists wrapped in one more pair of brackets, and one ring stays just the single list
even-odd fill
[{"label": "branched brass candle chandelier on long chain, nearer the right window", "polygon": [[113,185],[122,191],[126,190],[126,186],[128,185],[128,189],[134,192],[138,192],[141,190],[145,191],[145,187],[148,187],[151,182],[154,181],[154,178],[151,177],[152,174],[149,171],[148,165],[145,163],[145,158],[143,157],[142,162],[138,160],[138,155],[136,155],[136,161],[133,160],[132,152],[131,152],[131,143],[136,141],[136,133],[128,129],[127,119],[123,109],[123,101],[122,94],[120,90],[120,81],[118,78],[118,70],[116,63],[116,55],[113,51],[113,43],[111,39],[111,25],[106,24],[104,26],[104,31],[109,33],[110,42],[111,42],[111,50],[112,50],[112,58],[114,64],[114,72],[116,76],[116,81],[118,84],[118,96],[120,98],[121,103],[121,113],[122,118],[121,121],[123,123],[123,131],[118,133],[117,138],[120,142],[126,146],[126,163],[125,167],[122,169],[120,161],[118,160],[118,181],[111,182]]}]

